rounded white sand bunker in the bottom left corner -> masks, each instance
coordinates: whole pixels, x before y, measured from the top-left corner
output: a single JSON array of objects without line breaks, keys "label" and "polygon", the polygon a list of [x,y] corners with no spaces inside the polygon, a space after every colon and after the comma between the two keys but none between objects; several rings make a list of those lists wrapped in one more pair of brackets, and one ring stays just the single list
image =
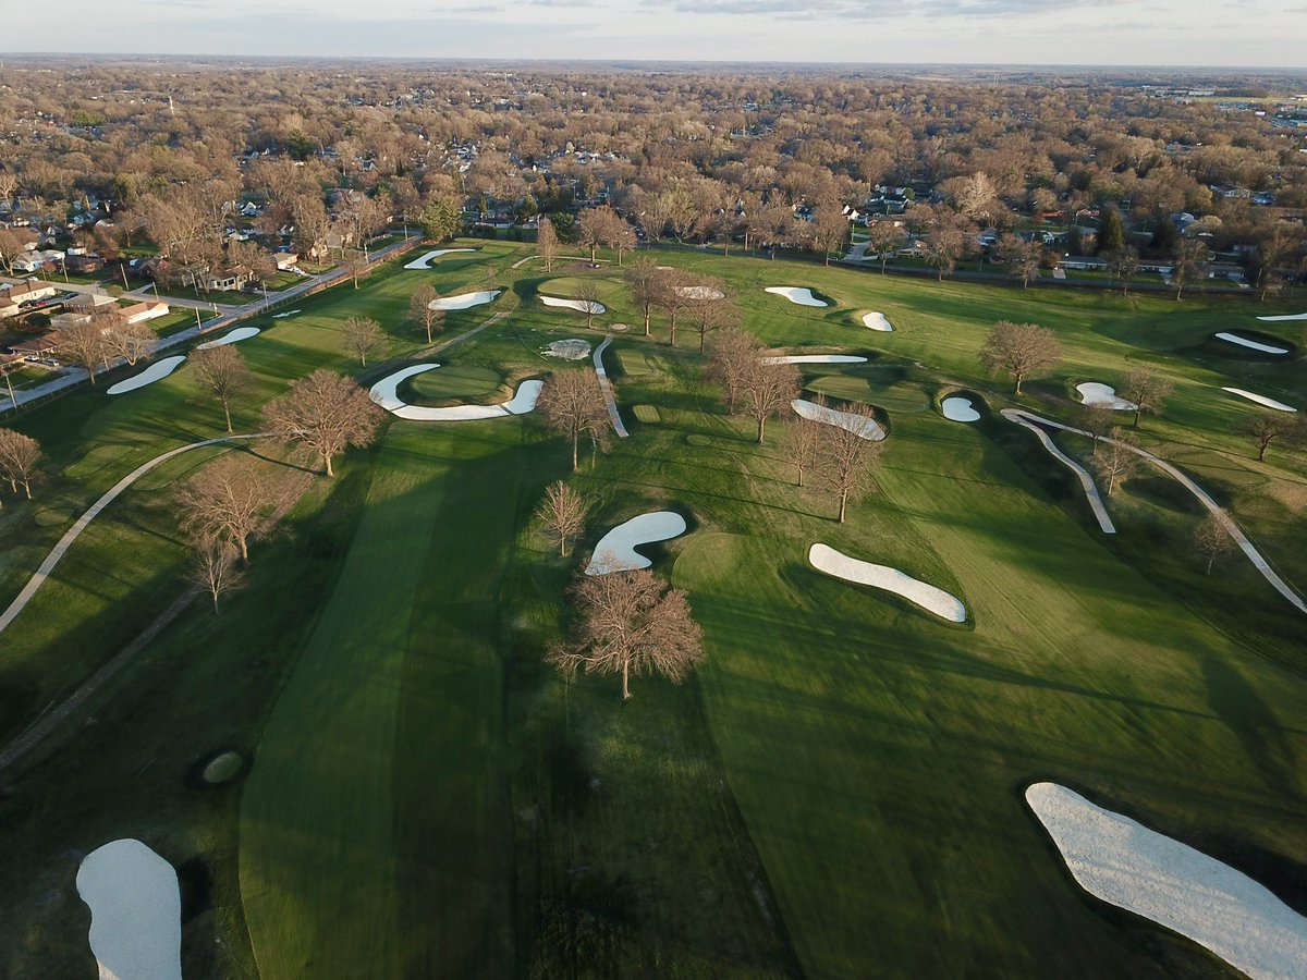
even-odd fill
[{"label": "rounded white sand bunker in the bottom left corner", "polygon": [[173,865],[139,840],[114,840],[77,869],[101,980],[182,980],[182,892]]}]

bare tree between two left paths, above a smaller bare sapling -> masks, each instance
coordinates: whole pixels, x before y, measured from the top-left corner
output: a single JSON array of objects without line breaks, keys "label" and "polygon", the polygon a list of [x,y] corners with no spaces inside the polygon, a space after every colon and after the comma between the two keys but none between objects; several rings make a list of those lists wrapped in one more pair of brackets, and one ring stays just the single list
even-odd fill
[{"label": "bare tree between two left paths, above a smaller bare sapling", "polygon": [[229,542],[250,561],[250,537],[271,527],[276,483],[246,461],[210,463],[176,493],[180,524],[199,541]]}]

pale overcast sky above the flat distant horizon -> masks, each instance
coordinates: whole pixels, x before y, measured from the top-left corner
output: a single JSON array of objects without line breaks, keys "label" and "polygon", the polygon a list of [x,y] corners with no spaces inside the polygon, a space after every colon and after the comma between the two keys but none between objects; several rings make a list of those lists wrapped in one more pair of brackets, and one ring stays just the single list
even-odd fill
[{"label": "pale overcast sky above the flat distant horizon", "polygon": [[1302,67],[1307,54],[1307,0],[29,0],[25,8],[22,31],[3,42],[10,52],[1246,67]]}]

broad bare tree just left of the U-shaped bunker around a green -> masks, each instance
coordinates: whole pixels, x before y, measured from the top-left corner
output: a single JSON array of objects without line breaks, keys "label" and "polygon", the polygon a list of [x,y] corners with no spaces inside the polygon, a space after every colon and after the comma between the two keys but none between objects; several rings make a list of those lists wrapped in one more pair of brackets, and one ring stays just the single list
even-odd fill
[{"label": "broad bare tree just left of the U-shaped bunker around a green", "polygon": [[286,443],[303,443],[336,476],[332,459],[349,446],[370,446],[386,416],[352,378],[319,368],[263,409],[264,425]]}]

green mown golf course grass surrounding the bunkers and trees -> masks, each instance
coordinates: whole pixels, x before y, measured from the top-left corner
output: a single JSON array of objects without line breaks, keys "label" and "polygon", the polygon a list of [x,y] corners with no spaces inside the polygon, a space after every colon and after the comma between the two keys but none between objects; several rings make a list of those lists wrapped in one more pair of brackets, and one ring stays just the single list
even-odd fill
[{"label": "green mown golf course grass surrounding the bunkers and trees", "polygon": [[[546,274],[511,268],[523,246],[455,244],[481,251],[404,270],[413,250],[358,289],[252,320],[264,332],[238,348],[255,385],[237,430],[318,367],[370,384],[438,361],[401,395],[489,402],[584,366],[542,357],[549,341],[640,324],[616,267],[561,260]],[[661,315],[654,337],[618,335],[605,361],[631,438],[578,474],[535,416],[391,422],[337,481],[310,481],[221,615],[192,605],[0,774],[0,839],[16,855],[0,868],[0,972],[93,970],[76,856],[139,836],[182,869],[188,976],[1230,976],[1074,886],[1022,801],[1043,779],[1307,908],[1300,614],[1242,557],[1202,574],[1188,546],[1200,511],[1174,481],[1127,482],[1108,500],[1119,533],[1103,536],[1069,474],[997,417],[1021,405],[1073,421],[1080,382],[1119,384],[1138,366],[1167,376],[1175,392],[1142,419],[1142,444],[1302,588],[1304,453],[1277,443],[1257,463],[1231,431],[1252,409],[1219,391],[1307,408],[1300,327],[1253,319],[1299,301],[1023,291],[690,251],[657,261],[724,278],[771,346],[869,358],[802,375],[809,393],[872,404],[890,427],[848,524],[831,520],[829,493],[795,485],[784,423],[759,447],[724,414],[698,336],[685,324],[669,348]],[[575,297],[584,280],[608,307],[591,331],[537,299]],[[422,284],[506,291],[450,312],[438,342],[498,319],[433,355],[408,319]],[[795,306],[772,285],[831,304]],[[872,310],[891,333],[861,325]],[[341,346],[354,315],[387,333],[366,368]],[[1019,399],[976,365],[999,319],[1047,325],[1063,345]],[[1212,340],[1225,329],[1293,353],[1225,349]],[[38,500],[0,511],[0,602],[123,473],[220,434],[221,408],[187,366],[105,396],[115,379],[14,422],[41,439],[50,477]],[[959,389],[984,402],[980,422],[940,416]],[[0,741],[179,595],[171,494],[218,452],[174,460],[115,502],[5,634]],[[532,519],[557,478],[592,502],[566,559]],[[566,625],[571,576],[604,531],[664,507],[690,531],[650,553],[689,592],[707,662],[682,686],[635,678],[627,704],[612,677],[565,683],[542,652]],[[816,572],[816,541],[953,592],[967,622]],[[222,747],[250,753],[248,776],[196,788],[188,774]]]}]

